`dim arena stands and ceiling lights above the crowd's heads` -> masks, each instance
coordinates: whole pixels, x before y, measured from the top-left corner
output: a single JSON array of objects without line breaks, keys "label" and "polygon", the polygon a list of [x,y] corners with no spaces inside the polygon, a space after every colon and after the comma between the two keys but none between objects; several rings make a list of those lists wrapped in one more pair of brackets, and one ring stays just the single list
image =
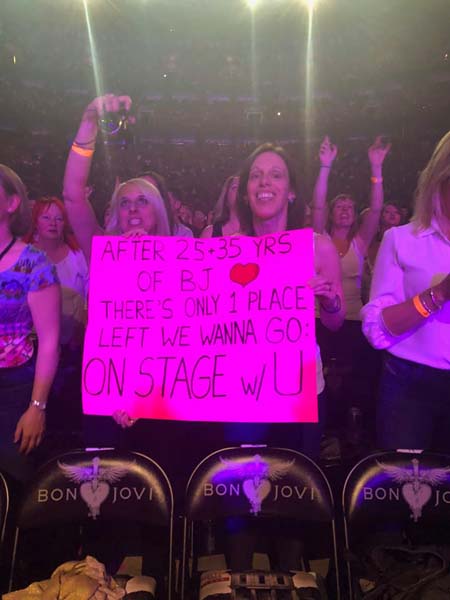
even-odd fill
[{"label": "dim arena stands and ceiling lights above the crowd's heads", "polygon": [[[409,207],[417,173],[448,126],[448,3],[318,1],[310,53],[306,2],[253,4],[3,0],[0,159],[32,195],[60,194],[84,106],[99,92],[120,92],[132,97],[137,123],[108,173],[113,181],[127,175],[119,170],[151,168],[207,212],[225,177],[270,140],[301,164],[309,199],[329,134],[340,148],[331,193],[345,189],[362,204],[365,148],[381,133],[393,142],[385,195]],[[96,163],[101,211],[111,182]]]}]

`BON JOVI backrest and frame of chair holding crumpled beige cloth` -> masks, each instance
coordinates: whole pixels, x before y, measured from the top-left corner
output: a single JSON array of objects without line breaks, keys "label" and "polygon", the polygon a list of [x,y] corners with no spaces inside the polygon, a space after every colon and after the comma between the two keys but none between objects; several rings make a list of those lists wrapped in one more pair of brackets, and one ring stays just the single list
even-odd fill
[{"label": "BON JOVI backrest and frame of chair holding crumpled beige cloth", "polygon": [[167,528],[169,595],[173,548],[173,493],[151,458],[116,450],[72,451],[44,464],[27,487],[17,515],[11,585],[20,532],[89,520]]}]

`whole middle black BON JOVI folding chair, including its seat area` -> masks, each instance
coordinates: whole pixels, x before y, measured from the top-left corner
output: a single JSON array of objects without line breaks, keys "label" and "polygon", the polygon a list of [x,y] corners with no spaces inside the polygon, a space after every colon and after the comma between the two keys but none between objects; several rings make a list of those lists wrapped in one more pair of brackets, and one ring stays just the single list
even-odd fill
[{"label": "whole middle black BON JOVI folding chair, including its seat area", "polygon": [[[263,530],[270,524],[276,542],[277,536],[281,536],[281,547],[284,534],[288,532],[290,537],[298,526],[301,539],[294,539],[296,534],[292,539],[298,549],[302,543],[308,551],[301,550],[297,570],[308,569],[308,558],[314,552],[314,545],[315,558],[325,551],[320,557],[332,559],[334,594],[336,598],[340,597],[334,503],[324,473],[311,459],[294,450],[247,446],[224,448],[210,454],[190,476],[184,519],[182,600],[187,597],[188,589],[194,593],[198,573],[209,570],[208,564],[215,565],[213,570],[228,569],[229,556],[226,550],[220,552],[222,549],[215,533],[221,523],[236,518],[253,529]],[[221,566],[217,566],[215,559],[215,562],[207,557],[205,560],[205,554],[210,557],[224,555],[224,560],[219,559]],[[257,568],[261,570],[261,567]],[[267,572],[268,569],[270,566],[266,563],[262,571]],[[283,572],[290,569],[281,563],[278,565],[275,579],[279,585],[275,589],[279,589],[280,593],[286,583]],[[231,579],[234,581],[236,576],[232,571]],[[239,577],[248,579],[244,573]],[[263,581],[267,579],[267,573],[261,572],[258,577]]]}]

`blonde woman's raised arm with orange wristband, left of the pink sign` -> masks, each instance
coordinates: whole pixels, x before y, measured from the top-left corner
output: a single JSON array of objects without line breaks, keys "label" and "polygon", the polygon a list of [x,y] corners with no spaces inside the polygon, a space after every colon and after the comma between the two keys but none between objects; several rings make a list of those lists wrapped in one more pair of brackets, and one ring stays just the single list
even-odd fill
[{"label": "blonde woman's raised arm with orange wristband, left of the pink sign", "polygon": [[78,132],[70,149],[64,174],[63,197],[70,224],[89,261],[92,237],[102,232],[86,194],[86,185],[98,134],[98,120],[105,112],[129,110],[128,96],[107,94],[95,98],[84,110]]}]

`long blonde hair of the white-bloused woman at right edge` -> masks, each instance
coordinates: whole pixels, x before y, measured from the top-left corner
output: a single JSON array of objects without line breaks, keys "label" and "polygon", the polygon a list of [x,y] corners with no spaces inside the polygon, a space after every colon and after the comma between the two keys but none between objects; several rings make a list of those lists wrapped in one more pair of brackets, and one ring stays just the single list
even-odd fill
[{"label": "long blonde hair of the white-bloused woman at right edge", "polygon": [[417,183],[412,221],[418,230],[430,227],[433,217],[442,222],[442,185],[447,180],[450,180],[450,131],[438,142]]}]

